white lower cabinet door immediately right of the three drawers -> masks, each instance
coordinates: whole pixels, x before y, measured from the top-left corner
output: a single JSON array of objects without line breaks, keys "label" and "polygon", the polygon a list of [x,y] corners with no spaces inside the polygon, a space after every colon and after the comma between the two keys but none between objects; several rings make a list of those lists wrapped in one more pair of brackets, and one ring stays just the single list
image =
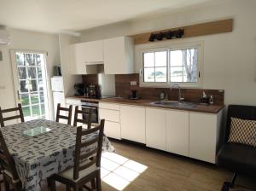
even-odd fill
[{"label": "white lower cabinet door immediately right of the three drawers", "polygon": [[121,137],[145,143],[145,107],[120,106]]}]

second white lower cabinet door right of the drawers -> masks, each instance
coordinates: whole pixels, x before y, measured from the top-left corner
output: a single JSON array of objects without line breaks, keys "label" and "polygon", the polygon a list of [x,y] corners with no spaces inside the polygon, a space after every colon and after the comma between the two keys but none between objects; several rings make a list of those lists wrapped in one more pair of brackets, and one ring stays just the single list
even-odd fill
[{"label": "second white lower cabinet door right of the drawers", "polygon": [[146,108],[146,145],[166,150],[166,110]]}]

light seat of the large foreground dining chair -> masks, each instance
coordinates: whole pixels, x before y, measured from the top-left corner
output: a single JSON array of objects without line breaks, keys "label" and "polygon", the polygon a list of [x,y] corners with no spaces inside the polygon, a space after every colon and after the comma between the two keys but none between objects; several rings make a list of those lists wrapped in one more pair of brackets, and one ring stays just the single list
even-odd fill
[{"label": "light seat of the large foreground dining chair", "polygon": [[[87,163],[89,163],[90,161],[84,161],[83,163],[81,163],[80,165],[86,165]],[[67,169],[66,171],[62,171],[59,176],[61,177],[65,177],[68,180],[73,180],[73,182],[78,182],[81,178],[86,177],[88,175],[90,175],[90,173],[99,170],[99,167],[96,167],[96,165],[91,165],[90,167],[79,171],[79,178],[74,180],[73,179],[73,168]]]}]

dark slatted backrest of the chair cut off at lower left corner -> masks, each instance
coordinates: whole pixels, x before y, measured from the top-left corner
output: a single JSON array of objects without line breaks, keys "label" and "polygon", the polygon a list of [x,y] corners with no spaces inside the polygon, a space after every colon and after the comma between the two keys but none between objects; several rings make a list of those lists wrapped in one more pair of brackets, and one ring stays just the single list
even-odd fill
[{"label": "dark slatted backrest of the chair cut off at lower left corner", "polygon": [[9,171],[11,175],[13,176],[14,180],[18,180],[19,176],[16,171],[15,167],[15,161],[11,157],[9,153],[9,149],[7,148],[7,145],[4,141],[2,131],[0,130],[0,160],[1,160],[1,167],[2,171]]}]

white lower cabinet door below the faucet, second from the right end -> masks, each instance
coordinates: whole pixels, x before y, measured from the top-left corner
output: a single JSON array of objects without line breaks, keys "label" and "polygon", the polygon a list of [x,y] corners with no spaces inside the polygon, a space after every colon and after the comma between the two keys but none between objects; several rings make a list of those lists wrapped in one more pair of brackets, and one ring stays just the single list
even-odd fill
[{"label": "white lower cabinet door below the faucet, second from the right end", "polygon": [[189,112],[166,112],[166,150],[183,156],[189,155]]}]

